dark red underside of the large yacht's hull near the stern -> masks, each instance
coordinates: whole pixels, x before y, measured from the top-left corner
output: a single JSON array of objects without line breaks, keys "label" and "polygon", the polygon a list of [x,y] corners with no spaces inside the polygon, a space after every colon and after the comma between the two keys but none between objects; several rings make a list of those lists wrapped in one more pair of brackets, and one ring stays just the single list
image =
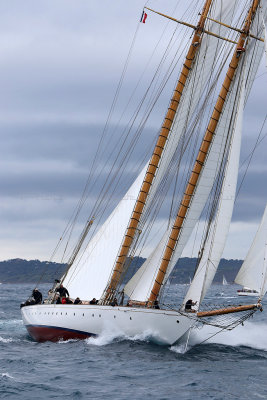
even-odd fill
[{"label": "dark red underside of the large yacht's hull near the stern", "polygon": [[56,326],[26,326],[31,337],[37,342],[58,342],[59,340],[86,339],[94,334],[75,331],[72,329],[57,328]]}]

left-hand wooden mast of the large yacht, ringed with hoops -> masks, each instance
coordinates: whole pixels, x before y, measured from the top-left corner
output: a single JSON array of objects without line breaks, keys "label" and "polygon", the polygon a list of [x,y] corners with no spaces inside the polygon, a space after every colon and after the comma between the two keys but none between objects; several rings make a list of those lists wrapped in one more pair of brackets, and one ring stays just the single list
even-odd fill
[{"label": "left-hand wooden mast of the large yacht, ringed with hoops", "polygon": [[195,55],[196,55],[199,45],[201,43],[201,37],[203,35],[203,28],[204,28],[206,17],[208,15],[212,1],[213,0],[205,1],[205,5],[203,7],[197,29],[195,31],[191,45],[190,45],[188,53],[186,55],[186,59],[185,59],[182,71],[180,73],[180,77],[179,77],[177,86],[174,90],[167,114],[165,116],[165,119],[163,121],[161,130],[159,133],[159,137],[158,137],[156,146],[153,151],[153,155],[149,162],[149,166],[148,166],[144,181],[141,186],[141,190],[140,190],[138,198],[136,200],[134,210],[133,210],[132,216],[130,218],[128,228],[126,230],[124,240],[121,245],[111,279],[110,279],[107,289],[103,295],[104,303],[108,303],[112,299],[112,297],[114,296],[115,290],[118,286],[118,283],[120,281],[120,276],[123,271],[123,266],[124,266],[124,263],[126,261],[128,254],[129,254],[130,247],[133,243],[135,233],[138,228],[138,224],[139,224],[144,206],[146,204],[147,196],[149,194],[151,185],[152,185],[154,177],[156,175],[162,152],[164,150],[170,130],[172,128],[174,117],[175,117],[176,111],[178,109],[178,105],[180,103],[180,99],[183,94],[183,90],[184,90],[189,72],[192,68],[192,65],[193,65],[193,62],[195,59]]}]

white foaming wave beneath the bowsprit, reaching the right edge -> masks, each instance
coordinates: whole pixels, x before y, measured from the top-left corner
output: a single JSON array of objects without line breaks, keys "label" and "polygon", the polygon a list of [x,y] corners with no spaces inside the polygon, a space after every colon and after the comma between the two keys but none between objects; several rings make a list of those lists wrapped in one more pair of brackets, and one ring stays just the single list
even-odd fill
[{"label": "white foaming wave beneath the bowsprit, reaching the right edge", "polygon": [[[245,322],[232,331],[220,332],[220,329],[205,326],[200,330],[192,331],[189,345],[207,343],[223,344],[226,346],[246,346],[252,349],[267,351],[267,324]],[[215,335],[211,337],[212,335]]]}]

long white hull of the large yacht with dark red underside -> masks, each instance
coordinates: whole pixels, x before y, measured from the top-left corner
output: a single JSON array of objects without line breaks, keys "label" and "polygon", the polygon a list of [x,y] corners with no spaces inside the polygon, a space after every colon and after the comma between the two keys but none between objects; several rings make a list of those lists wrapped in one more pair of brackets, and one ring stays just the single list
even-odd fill
[{"label": "long white hull of the large yacht with dark red underside", "polygon": [[74,304],[42,304],[21,309],[23,322],[33,339],[99,336],[105,332],[172,345],[195,324],[195,319],[176,311]]}]

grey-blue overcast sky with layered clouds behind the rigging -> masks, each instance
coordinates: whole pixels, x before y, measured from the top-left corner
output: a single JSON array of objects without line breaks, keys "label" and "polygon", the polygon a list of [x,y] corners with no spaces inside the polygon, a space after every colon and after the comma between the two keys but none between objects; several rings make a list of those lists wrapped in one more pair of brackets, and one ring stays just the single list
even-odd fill
[{"label": "grey-blue overcast sky with layered clouds behind the rigging", "polygon": [[[171,14],[177,3],[148,5]],[[84,187],[143,5],[141,0],[0,3],[1,260],[50,258]],[[157,24],[163,28],[149,15],[141,27],[143,47],[132,64],[133,77],[160,34]],[[266,114],[264,63],[258,76],[247,104],[241,160]],[[156,122],[150,122],[151,132],[158,129]],[[262,136],[266,132],[267,126]],[[236,204],[227,258],[244,257],[263,213],[266,149],[265,138]]]}]

